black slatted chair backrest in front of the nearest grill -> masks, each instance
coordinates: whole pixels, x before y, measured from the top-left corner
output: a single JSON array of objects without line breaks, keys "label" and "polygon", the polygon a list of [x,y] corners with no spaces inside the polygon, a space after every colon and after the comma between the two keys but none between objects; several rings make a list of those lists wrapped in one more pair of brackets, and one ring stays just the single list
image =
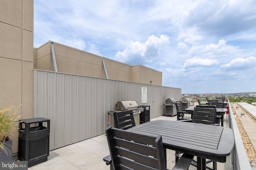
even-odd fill
[{"label": "black slatted chair backrest in front of the nearest grill", "polygon": [[135,126],[132,110],[114,112],[115,127],[118,129],[129,129]]}]

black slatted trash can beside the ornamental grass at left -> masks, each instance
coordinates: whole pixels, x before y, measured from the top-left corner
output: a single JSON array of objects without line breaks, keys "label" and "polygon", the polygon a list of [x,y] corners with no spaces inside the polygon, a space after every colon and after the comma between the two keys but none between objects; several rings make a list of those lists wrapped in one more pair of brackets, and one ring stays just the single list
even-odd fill
[{"label": "black slatted trash can beside the ornamental grass at left", "polygon": [[47,161],[50,143],[50,119],[22,119],[19,123],[18,158],[28,167]]}]

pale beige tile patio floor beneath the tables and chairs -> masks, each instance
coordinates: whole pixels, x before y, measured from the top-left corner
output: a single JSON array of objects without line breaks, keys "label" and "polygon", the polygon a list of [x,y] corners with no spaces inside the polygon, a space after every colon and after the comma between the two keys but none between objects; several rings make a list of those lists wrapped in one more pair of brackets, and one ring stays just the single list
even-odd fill
[{"label": "pale beige tile patio floor beneath the tables and chairs", "polygon": [[[224,116],[224,126],[228,126],[228,115]],[[156,119],[176,121],[177,117],[160,116]],[[227,125],[225,125],[227,123]],[[171,170],[175,165],[175,151],[167,150],[167,168]],[[28,170],[109,170],[103,161],[103,157],[109,154],[108,142],[105,135],[100,135],[81,141],[66,147],[50,151],[48,161],[28,168]],[[231,156],[227,157],[226,163],[217,162],[218,170],[231,170]],[[196,170],[190,166],[190,170]]]}]

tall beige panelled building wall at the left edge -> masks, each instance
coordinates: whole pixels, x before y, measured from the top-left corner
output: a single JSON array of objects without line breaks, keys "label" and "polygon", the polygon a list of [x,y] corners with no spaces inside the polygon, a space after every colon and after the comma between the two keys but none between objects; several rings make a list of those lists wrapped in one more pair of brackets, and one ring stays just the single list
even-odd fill
[{"label": "tall beige panelled building wall at the left edge", "polygon": [[[0,2],[0,106],[20,106],[21,119],[33,117],[33,0]],[[18,152],[18,140],[13,141]]]}]

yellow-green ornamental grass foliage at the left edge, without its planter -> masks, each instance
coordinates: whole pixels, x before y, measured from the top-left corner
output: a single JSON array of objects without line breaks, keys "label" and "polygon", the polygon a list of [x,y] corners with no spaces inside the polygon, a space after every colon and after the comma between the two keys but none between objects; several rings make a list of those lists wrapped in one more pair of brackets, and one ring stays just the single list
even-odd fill
[{"label": "yellow-green ornamental grass foliage at the left edge, without its planter", "polygon": [[6,154],[9,150],[4,145],[4,142],[18,136],[18,128],[15,126],[15,123],[20,118],[17,115],[18,107],[4,105],[0,109],[0,149]]}]

